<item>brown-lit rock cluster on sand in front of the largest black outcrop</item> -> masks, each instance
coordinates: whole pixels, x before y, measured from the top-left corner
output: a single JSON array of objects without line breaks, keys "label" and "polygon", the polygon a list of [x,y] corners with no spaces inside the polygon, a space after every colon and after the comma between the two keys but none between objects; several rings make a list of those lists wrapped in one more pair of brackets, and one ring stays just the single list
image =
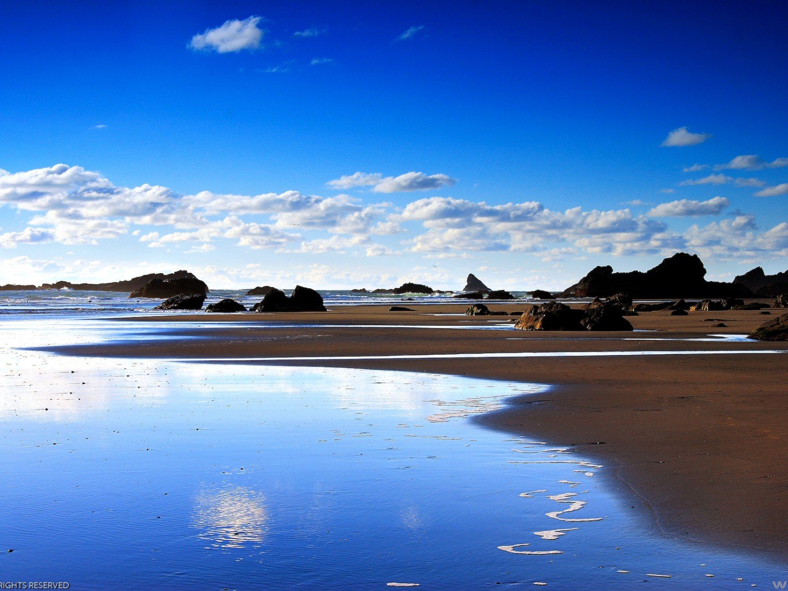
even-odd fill
[{"label": "brown-lit rock cluster on sand in front of the largest black outcrop", "polygon": [[515,324],[521,330],[594,330],[630,331],[624,309],[609,299],[595,299],[581,309],[564,303],[547,302],[532,306]]}]

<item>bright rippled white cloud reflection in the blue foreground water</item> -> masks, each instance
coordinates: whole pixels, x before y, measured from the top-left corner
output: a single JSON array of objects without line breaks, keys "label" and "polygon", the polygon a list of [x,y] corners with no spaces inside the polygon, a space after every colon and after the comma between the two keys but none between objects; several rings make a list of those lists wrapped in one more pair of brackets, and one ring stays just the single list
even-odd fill
[{"label": "bright rippled white cloud reflection in the blue foreground water", "polygon": [[266,497],[242,486],[201,492],[195,499],[193,526],[216,548],[245,548],[266,537]]}]

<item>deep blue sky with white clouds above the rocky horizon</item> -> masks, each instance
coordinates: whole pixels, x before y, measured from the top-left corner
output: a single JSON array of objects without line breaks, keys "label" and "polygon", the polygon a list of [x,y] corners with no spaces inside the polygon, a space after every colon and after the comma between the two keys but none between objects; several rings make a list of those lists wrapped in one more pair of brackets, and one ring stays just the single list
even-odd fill
[{"label": "deep blue sky with white clouds above the rocky horizon", "polygon": [[785,270],[786,17],[13,3],[0,283],[186,268],[215,288],[459,288],[474,272],[558,289],[677,250],[714,278]]}]

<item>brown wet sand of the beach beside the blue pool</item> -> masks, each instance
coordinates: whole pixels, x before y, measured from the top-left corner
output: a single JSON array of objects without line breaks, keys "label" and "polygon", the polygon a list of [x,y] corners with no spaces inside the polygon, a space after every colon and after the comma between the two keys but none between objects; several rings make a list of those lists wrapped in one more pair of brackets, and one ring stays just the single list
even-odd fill
[{"label": "brown wet sand of the beach beside the blue pool", "polygon": [[[490,304],[492,310],[527,305]],[[466,304],[336,307],[304,314],[162,314],[171,338],[58,349],[76,355],[163,358],[435,355],[545,351],[788,351],[788,343],[683,340],[745,334],[774,318],[757,311],[667,312],[631,317],[636,333],[526,333],[487,329],[506,317],[462,313]],[[776,314],[776,312],[775,312]],[[719,318],[727,328],[712,328]],[[193,322],[221,322],[210,329]],[[232,324],[226,324],[232,323]],[[266,324],[297,324],[292,328]],[[305,328],[303,325],[311,325]],[[325,326],[332,325],[332,326]],[[371,325],[354,328],[355,325]],[[414,328],[400,328],[402,325]],[[429,328],[428,328],[429,327]],[[168,327],[162,330],[169,331]],[[194,338],[204,337],[204,338]],[[663,339],[663,340],[654,340]],[[574,445],[615,466],[622,499],[662,533],[788,559],[788,355],[681,355],[277,362],[459,374],[552,385],[486,426]],[[627,490],[629,489],[629,490]],[[631,491],[631,493],[630,493]]]}]

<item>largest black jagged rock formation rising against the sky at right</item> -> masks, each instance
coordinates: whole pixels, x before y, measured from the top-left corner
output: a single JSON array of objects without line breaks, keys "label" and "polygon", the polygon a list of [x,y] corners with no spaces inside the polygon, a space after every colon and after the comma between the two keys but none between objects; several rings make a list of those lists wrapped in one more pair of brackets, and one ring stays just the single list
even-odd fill
[{"label": "largest black jagged rock formation rising against the sky at right", "polygon": [[592,269],[564,297],[609,297],[618,292],[633,298],[727,298],[752,296],[742,284],[705,280],[706,269],[697,255],[678,252],[645,273],[613,273],[611,266]]}]

